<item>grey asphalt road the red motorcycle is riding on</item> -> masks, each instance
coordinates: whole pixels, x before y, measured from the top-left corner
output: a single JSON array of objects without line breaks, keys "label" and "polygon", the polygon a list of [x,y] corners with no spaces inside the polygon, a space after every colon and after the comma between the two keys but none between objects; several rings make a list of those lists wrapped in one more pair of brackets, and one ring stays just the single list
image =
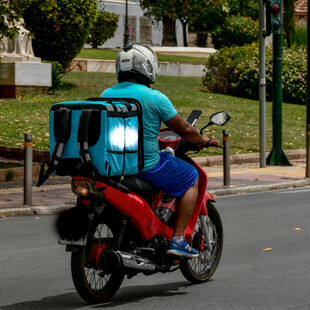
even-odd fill
[{"label": "grey asphalt road the red motorcycle is riding on", "polygon": [[211,281],[138,276],[96,306],[74,290],[54,216],[0,219],[0,309],[310,309],[309,197],[310,189],[219,197],[225,244]]}]

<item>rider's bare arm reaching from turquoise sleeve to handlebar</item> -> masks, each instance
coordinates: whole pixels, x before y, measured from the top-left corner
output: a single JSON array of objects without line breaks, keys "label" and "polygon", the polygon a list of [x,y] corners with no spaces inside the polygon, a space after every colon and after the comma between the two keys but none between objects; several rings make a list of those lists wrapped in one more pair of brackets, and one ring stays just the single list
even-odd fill
[{"label": "rider's bare arm reaching from turquoise sleeve to handlebar", "polygon": [[169,121],[166,121],[165,124],[184,140],[196,144],[199,148],[210,141],[209,137],[202,136],[194,126],[188,123],[178,113]]}]

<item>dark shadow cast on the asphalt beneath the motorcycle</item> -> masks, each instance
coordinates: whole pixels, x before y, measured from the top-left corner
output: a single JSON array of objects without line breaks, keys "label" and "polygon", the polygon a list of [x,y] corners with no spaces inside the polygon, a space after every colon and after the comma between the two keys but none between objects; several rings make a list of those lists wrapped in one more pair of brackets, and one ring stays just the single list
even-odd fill
[{"label": "dark shadow cast on the asphalt beneath the motorcycle", "polygon": [[[137,285],[121,288],[114,298],[104,304],[90,306],[92,309],[105,309],[121,306],[123,304],[136,303],[150,297],[169,297],[184,295],[186,292],[179,292],[192,284],[183,281],[159,285]],[[55,310],[55,309],[78,309],[86,304],[76,292],[50,296],[41,300],[19,302],[12,305],[1,306],[1,310]]]}]

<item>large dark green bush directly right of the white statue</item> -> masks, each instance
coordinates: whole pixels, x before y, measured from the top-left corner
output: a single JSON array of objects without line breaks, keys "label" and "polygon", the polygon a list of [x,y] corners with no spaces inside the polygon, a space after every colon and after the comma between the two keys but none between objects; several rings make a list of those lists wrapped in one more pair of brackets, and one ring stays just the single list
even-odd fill
[{"label": "large dark green bush directly right of the white statue", "polygon": [[96,18],[95,0],[32,0],[23,17],[36,56],[66,69],[87,40]]}]

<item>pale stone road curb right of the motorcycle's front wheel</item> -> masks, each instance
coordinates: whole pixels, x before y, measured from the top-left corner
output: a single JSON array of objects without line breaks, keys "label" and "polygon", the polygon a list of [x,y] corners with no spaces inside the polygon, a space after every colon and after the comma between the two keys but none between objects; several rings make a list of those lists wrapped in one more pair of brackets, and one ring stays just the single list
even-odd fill
[{"label": "pale stone road curb right of the motorcycle's front wheel", "polygon": [[306,186],[310,186],[310,179],[297,180],[285,183],[219,188],[210,190],[209,193],[213,196],[227,196],[227,195],[267,192],[279,189],[289,189],[289,188],[306,187]]}]

